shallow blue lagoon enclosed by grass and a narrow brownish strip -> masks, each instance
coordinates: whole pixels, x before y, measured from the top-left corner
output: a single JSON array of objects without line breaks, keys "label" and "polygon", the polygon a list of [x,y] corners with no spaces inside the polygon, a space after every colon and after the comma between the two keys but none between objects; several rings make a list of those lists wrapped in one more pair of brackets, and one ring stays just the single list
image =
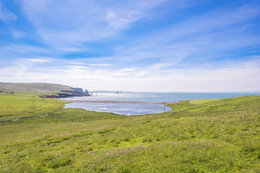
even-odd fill
[{"label": "shallow blue lagoon enclosed by grass and a narrow brownish strip", "polygon": [[[68,103],[65,108],[82,108],[90,111],[124,115],[164,112],[164,105],[150,103]],[[166,112],[171,110],[171,107],[165,106]]]}]

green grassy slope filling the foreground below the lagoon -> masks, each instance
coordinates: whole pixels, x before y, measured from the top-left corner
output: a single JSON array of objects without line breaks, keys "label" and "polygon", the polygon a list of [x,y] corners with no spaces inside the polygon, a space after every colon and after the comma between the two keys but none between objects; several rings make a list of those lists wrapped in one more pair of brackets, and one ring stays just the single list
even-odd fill
[{"label": "green grassy slope filling the foreground below the lagoon", "polygon": [[62,104],[0,124],[0,172],[260,172],[260,96],[182,101],[143,116]]}]

